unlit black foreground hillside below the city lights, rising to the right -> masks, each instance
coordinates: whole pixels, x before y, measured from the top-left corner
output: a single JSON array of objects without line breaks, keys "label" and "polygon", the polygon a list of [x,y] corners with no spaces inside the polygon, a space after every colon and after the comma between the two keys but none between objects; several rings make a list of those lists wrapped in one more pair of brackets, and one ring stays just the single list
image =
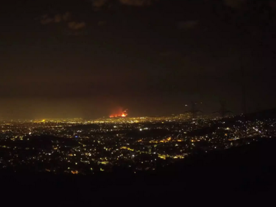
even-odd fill
[{"label": "unlit black foreground hillside below the city lights, rising to the right", "polygon": [[188,157],[155,173],[92,177],[1,173],[2,204],[266,206],[276,191],[276,139]]}]

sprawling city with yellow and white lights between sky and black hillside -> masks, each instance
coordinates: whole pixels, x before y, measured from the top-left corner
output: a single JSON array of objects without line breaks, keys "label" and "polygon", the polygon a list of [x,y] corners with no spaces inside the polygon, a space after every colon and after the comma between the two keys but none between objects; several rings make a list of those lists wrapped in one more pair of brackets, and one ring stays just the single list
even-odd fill
[{"label": "sprawling city with yellow and white lights between sky and black hillside", "polygon": [[126,166],[138,172],[275,136],[276,119],[188,117],[1,121],[1,168],[86,175]]}]

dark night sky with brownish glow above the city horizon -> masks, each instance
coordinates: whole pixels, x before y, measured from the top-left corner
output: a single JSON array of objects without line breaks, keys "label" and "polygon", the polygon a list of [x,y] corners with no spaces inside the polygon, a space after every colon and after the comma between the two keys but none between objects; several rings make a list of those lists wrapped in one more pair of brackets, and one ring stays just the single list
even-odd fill
[{"label": "dark night sky with brownish glow above the city horizon", "polygon": [[[170,115],[202,101],[276,106],[276,1],[10,0],[1,5],[0,117]],[[242,80],[241,68],[246,77]]]}]

